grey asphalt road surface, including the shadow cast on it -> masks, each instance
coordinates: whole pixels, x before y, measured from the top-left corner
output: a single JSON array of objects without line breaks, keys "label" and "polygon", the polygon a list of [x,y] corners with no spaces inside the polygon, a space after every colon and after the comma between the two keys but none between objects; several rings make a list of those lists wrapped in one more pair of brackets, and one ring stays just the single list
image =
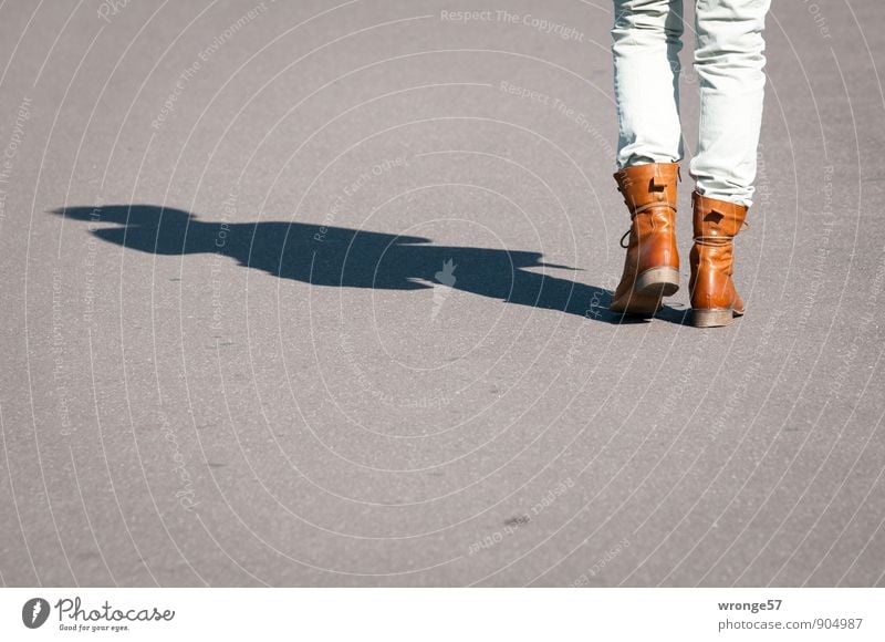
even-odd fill
[{"label": "grey asphalt road surface, including the shadow cast on it", "polygon": [[774,3],[712,330],[686,170],[683,289],[606,311],[611,22],[0,6],[0,581],[885,584],[882,3]]}]

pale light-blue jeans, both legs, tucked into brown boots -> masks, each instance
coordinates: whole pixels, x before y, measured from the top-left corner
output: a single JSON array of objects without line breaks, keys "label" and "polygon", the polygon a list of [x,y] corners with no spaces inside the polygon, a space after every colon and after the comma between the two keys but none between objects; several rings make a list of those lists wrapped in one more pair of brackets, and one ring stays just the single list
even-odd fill
[{"label": "pale light-blue jeans, both legs, tucked into brown boots", "polygon": [[[689,165],[705,196],[750,206],[762,122],[762,31],[771,0],[695,0],[698,148]],[[683,159],[679,51],[683,0],[614,0],[618,169]]]}]

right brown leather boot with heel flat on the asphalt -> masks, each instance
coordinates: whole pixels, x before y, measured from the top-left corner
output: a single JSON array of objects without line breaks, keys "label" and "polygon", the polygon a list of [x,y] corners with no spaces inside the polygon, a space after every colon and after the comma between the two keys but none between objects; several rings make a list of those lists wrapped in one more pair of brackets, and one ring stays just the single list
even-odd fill
[{"label": "right brown leather boot with heel flat on the asphalt", "polygon": [[697,328],[728,325],[743,314],[743,300],[731,281],[735,236],[740,231],[747,208],[742,205],[707,198],[697,191],[695,245],[689,262],[691,279],[691,323]]}]

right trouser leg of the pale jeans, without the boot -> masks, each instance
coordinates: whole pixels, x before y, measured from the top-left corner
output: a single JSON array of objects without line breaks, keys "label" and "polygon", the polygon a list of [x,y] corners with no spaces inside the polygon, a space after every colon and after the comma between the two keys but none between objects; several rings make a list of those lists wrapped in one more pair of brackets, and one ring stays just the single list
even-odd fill
[{"label": "right trouser leg of the pale jeans, without the boot", "polygon": [[762,123],[762,31],[770,0],[696,0],[698,148],[690,174],[699,194],[749,207]]}]

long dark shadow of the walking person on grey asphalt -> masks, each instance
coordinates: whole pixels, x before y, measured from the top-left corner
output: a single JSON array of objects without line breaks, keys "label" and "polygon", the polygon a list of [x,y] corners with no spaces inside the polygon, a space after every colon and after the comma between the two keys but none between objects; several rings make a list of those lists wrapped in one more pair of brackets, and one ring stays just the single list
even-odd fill
[{"label": "long dark shadow of the walking person on grey asphalt", "polygon": [[[295,221],[202,221],[190,213],[155,205],[64,207],[52,214],[90,221],[93,235],[125,248],[167,256],[223,255],[241,266],[311,286],[381,290],[444,286],[606,323],[639,321],[610,312],[608,290],[531,271],[574,270],[543,262],[540,252],[438,246],[423,237]],[[97,227],[106,224],[114,225]]]}]

